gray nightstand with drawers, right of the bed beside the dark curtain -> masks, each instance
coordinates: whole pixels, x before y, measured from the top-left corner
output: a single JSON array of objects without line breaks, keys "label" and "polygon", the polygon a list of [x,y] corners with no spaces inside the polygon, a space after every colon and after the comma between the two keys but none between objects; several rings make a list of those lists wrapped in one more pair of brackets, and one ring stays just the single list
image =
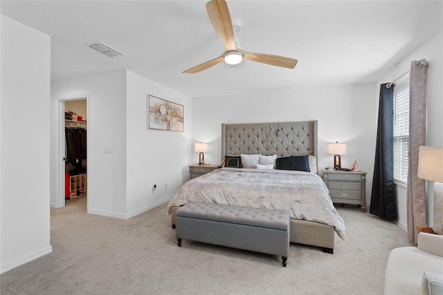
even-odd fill
[{"label": "gray nightstand with drawers, right of the bed beside the dark curtain", "polygon": [[366,212],[366,172],[323,169],[323,181],[333,203],[356,204]]}]

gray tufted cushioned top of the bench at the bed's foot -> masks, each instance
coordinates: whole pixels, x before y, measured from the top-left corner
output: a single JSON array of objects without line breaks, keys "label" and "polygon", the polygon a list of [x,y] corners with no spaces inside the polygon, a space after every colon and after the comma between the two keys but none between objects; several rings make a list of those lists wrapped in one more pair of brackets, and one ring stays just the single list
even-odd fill
[{"label": "gray tufted cushioned top of the bench at the bed's foot", "polygon": [[287,231],[289,211],[252,208],[225,204],[191,202],[179,208],[176,216],[186,216],[217,222],[259,226]]}]

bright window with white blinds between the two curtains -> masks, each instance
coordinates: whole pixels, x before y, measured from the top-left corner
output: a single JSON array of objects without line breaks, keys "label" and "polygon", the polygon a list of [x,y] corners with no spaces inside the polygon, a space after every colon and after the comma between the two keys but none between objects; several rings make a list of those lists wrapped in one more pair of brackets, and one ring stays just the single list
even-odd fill
[{"label": "bright window with white blinds between the two curtains", "polygon": [[409,84],[394,88],[394,181],[408,183]]}]

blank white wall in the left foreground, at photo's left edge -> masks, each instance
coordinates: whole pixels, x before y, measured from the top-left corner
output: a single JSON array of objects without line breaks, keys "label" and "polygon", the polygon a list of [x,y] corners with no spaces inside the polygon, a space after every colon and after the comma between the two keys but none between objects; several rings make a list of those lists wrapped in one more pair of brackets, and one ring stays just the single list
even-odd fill
[{"label": "blank white wall in the left foreground, at photo's left edge", "polygon": [[51,38],[0,17],[3,273],[52,251],[48,166]]}]

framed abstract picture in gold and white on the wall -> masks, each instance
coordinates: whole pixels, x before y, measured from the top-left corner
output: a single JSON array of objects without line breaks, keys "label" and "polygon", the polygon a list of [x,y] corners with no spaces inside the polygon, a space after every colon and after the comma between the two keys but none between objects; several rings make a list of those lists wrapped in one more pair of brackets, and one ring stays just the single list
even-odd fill
[{"label": "framed abstract picture in gold and white on the wall", "polygon": [[147,94],[147,129],[183,132],[184,107]]}]

